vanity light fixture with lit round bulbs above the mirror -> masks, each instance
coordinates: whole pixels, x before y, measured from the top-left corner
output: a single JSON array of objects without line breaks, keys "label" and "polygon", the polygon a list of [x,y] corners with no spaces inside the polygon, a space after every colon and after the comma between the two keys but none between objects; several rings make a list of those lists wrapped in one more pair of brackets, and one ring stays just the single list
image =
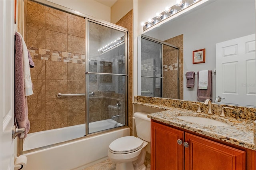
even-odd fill
[{"label": "vanity light fixture with lit round bulbs above the mirror", "polygon": [[170,16],[175,15],[176,13],[184,10],[185,8],[188,8],[193,4],[196,4],[199,1],[201,0],[176,0],[176,3],[173,6],[167,6],[163,12],[156,13],[155,17],[148,19],[148,21],[145,23],[142,22],[141,26],[143,27],[143,31],[169,18]]}]

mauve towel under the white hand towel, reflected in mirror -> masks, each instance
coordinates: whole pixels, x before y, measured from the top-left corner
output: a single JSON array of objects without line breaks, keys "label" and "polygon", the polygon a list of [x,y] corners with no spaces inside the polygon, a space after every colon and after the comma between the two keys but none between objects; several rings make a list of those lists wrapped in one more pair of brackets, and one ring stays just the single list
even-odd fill
[{"label": "mauve towel under the white hand towel, reflected in mirror", "polygon": [[[199,80],[199,71],[197,72],[197,83]],[[211,99],[212,95],[212,70],[208,70],[208,87],[207,89],[198,89],[197,87],[197,96],[198,101],[205,101],[206,99]]]}]

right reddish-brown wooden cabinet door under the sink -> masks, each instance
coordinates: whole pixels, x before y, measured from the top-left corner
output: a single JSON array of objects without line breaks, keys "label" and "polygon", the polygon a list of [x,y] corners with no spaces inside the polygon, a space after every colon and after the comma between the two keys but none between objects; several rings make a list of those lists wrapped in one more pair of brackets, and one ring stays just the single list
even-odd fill
[{"label": "right reddish-brown wooden cabinet door under the sink", "polygon": [[185,170],[245,170],[246,152],[185,133]]}]

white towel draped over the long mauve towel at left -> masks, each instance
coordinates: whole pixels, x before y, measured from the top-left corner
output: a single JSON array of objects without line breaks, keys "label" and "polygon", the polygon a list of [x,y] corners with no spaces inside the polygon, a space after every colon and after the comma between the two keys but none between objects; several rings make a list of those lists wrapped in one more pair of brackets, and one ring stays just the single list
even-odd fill
[{"label": "white towel draped over the long mauve towel at left", "polygon": [[18,34],[20,35],[22,40],[25,96],[30,96],[30,95],[33,95],[33,89],[32,89],[32,80],[30,75],[30,65],[29,65],[29,59],[28,59],[28,48],[21,34],[20,33]]}]

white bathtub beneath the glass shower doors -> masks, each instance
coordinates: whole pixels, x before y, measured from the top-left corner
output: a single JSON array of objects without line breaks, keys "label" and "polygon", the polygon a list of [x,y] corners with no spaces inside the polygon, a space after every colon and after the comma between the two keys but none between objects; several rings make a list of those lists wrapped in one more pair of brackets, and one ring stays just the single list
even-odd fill
[{"label": "white bathtub beneath the glass shower doors", "polygon": [[[112,119],[90,123],[89,126],[92,130],[90,130],[90,133],[101,131],[102,129],[106,129],[106,127],[113,128],[116,123]],[[120,123],[117,125],[122,126]],[[24,142],[24,150],[47,146],[51,143],[71,140],[72,138],[79,138],[85,134],[84,129],[85,125],[76,125],[73,127],[36,132],[37,134],[28,134]],[[28,159],[26,170],[84,169],[92,164],[108,159],[109,144],[117,138],[129,135],[130,128],[121,128],[23,154]],[[59,138],[62,138],[62,140]],[[43,142],[45,144],[42,144]]]}]

